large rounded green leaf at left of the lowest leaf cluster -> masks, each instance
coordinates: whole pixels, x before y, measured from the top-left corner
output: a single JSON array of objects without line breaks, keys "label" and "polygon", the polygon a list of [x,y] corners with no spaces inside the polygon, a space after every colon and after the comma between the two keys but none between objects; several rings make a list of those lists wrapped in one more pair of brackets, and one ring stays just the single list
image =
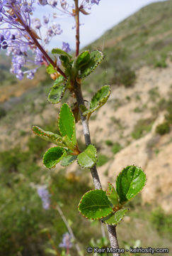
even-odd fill
[{"label": "large rounded green leaf at left of the lowest leaf cluster", "polygon": [[113,212],[105,191],[98,189],[86,192],[79,202],[78,209],[85,218],[91,220],[100,220]]}]

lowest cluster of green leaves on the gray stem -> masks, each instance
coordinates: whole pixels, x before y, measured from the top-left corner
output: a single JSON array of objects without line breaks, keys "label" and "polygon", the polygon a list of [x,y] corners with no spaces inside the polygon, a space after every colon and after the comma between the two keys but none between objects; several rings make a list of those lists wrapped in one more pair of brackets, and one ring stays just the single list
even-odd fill
[{"label": "lowest cluster of green leaves on the gray stem", "polygon": [[81,198],[79,211],[85,218],[117,225],[128,210],[123,206],[142,190],[145,182],[146,176],[142,169],[127,166],[117,176],[116,189],[112,183],[108,183],[107,191],[88,191]]}]

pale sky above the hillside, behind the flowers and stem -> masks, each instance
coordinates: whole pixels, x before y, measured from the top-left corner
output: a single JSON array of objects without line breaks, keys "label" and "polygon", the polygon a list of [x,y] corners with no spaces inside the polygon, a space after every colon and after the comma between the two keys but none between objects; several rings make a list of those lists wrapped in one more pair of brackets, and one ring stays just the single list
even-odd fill
[{"label": "pale sky above the hillside, behind the flowers and stem", "polygon": [[[105,31],[120,23],[143,6],[154,3],[157,0],[101,0],[99,5],[96,4],[91,9],[91,14],[80,16],[80,47],[84,47],[95,41],[103,35]],[[160,0],[164,1],[164,0]],[[46,8],[46,11],[45,11]],[[34,12],[34,16],[41,18],[42,15],[55,12],[50,6],[38,6]],[[49,50],[53,47],[61,48],[62,42],[69,43],[71,49],[75,48],[75,25],[74,18],[56,18],[55,21],[62,26],[63,33],[54,38],[49,46]]]}]

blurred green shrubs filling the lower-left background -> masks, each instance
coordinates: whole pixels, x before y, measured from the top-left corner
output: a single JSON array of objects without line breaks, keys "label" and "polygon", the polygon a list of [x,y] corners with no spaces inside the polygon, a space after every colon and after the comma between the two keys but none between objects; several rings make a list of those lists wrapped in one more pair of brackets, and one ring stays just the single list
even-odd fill
[{"label": "blurred green shrubs filling the lower-left background", "polygon": [[[81,216],[76,215],[79,198],[90,189],[88,181],[71,181],[64,175],[64,169],[55,174],[54,171],[51,173],[40,168],[35,159],[40,148],[36,152],[33,140],[28,144],[28,151],[24,152],[16,147],[11,151],[2,152],[0,156],[0,254],[13,256],[21,252],[25,255],[45,255],[44,250],[50,245],[47,236],[40,233],[42,228],[49,229],[57,245],[61,242],[62,234],[67,232],[65,225],[55,209],[42,208],[36,188],[42,178],[47,180],[49,176],[52,176],[49,186],[53,194],[52,205],[58,201],[63,203],[62,210],[73,223],[72,228],[76,237],[80,242],[85,241],[88,244],[94,228],[89,226],[89,223],[84,223]],[[31,154],[33,151],[35,154]],[[81,233],[77,230],[78,225],[81,226]],[[76,255],[75,251],[73,253]]]}]

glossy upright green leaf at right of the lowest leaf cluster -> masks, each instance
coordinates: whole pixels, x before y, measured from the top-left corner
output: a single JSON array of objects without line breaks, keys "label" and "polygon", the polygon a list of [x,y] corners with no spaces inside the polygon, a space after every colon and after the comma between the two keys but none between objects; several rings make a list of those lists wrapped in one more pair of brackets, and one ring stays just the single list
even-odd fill
[{"label": "glossy upright green leaf at right of the lowest leaf cluster", "polygon": [[125,203],[142,190],[146,183],[146,175],[137,166],[127,166],[117,176],[116,189],[120,203]]}]

